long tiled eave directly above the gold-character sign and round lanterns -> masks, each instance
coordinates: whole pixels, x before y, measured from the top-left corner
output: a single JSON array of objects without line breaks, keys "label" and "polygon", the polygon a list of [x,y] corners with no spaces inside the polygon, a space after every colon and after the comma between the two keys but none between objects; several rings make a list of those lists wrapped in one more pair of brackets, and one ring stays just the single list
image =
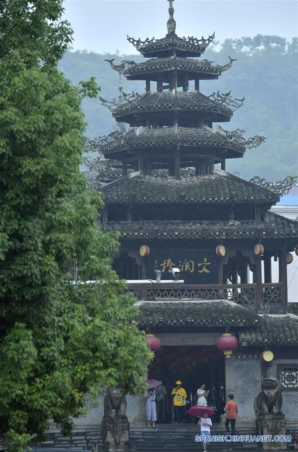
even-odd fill
[{"label": "long tiled eave directly above the gold-character sign and round lanterns", "polygon": [[269,211],[264,221],[109,221],[105,231],[120,231],[124,239],[267,239],[298,238],[298,223]]}]

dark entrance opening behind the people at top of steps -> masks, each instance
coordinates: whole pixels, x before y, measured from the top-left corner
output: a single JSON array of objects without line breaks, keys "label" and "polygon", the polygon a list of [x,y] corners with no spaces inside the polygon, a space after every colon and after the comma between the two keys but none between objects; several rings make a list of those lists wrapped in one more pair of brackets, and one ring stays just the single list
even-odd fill
[{"label": "dark entrance opening behind the people at top of steps", "polygon": [[[186,409],[197,404],[197,390],[204,383],[210,391],[208,405],[216,408],[213,422],[220,421],[225,405],[225,364],[222,352],[215,346],[164,346],[156,352],[148,378],[161,378],[167,389],[166,422],[173,422],[171,392],[177,380],[182,381],[190,402]],[[186,414],[185,422],[194,423],[197,418]]]}]

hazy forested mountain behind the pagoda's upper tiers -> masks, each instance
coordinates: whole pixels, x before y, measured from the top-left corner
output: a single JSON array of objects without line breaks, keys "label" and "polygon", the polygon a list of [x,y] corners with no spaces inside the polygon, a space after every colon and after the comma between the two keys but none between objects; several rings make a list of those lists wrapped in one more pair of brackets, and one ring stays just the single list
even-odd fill
[{"label": "hazy forested mountain behind the pagoda's upper tiers", "polygon": [[[233,97],[246,97],[230,123],[224,129],[247,131],[246,137],[262,135],[267,139],[256,149],[247,150],[243,159],[227,161],[227,170],[238,171],[249,179],[260,175],[268,180],[283,179],[297,173],[297,39],[286,43],[277,36],[227,39],[223,44],[212,44],[201,57],[219,64],[237,58],[233,67],[219,80],[201,81],[204,94],[231,90]],[[94,75],[101,86],[101,96],[111,100],[117,97],[118,74],[104,59],[115,58],[143,61],[139,55],[95,54],[69,51],[60,63],[60,69],[73,83]],[[122,80],[123,90],[144,92],[144,82]],[[190,84],[190,89],[194,89]],[[114,126],[111,112],[99,99],[84,99],[87,135],[94,138],[107,135]]]}]

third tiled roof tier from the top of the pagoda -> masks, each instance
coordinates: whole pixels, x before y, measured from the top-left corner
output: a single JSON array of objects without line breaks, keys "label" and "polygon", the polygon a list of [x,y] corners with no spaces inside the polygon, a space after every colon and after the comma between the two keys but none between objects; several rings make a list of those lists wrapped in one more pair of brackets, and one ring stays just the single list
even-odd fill
[{"label": "third tiled roof tier from the top of the pagoda", "polygon": [[136,112],[164,111],[173,108],[215,112],[231,118],[233,112],[230,108],[221,105],[219,102],[210,99],[197,91],[165,91],[147,92],[135,100],[119,105],[113,111],[113,117],[119,118],[123,115],[134,114]]}]

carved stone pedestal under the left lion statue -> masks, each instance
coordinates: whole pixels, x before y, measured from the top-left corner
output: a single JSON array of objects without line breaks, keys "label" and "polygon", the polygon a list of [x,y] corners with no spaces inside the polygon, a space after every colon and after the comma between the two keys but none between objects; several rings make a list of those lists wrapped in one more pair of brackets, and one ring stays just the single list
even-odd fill
[{"label": "carved stone pedestal under the left lion statue", "polygon": [[103,417],[105,452],[129,452],[129,422],[126,416]]}]

